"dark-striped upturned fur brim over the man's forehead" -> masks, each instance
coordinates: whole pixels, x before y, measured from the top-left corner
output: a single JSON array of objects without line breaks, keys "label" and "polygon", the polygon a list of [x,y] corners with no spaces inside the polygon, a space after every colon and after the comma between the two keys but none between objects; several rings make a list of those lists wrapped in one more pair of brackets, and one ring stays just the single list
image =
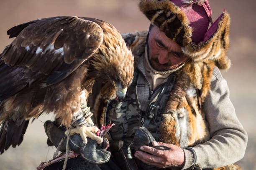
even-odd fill
[{"label": "dark-striped upturned fur brim over the man's forehead", "polygon": [[192,41],[192,28],[185,13],[169,0],[141,0],[141,12],[167,37],[184,47]]}]

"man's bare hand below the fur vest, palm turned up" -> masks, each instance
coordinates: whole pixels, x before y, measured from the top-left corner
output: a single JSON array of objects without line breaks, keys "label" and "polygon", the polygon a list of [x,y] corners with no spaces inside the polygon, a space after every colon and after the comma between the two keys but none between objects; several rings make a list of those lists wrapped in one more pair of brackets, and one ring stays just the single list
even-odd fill
[{"label": "man's bare hand below the fur vest, palm turned up", "polygon": [[183,167],[185,155],[182,148],[176,145],[156,141],[152,142],[152,145],[165,146],[168,147],[169,150],[158,150],[149,146],[142,146],[140,149],[147,153],[136,151],[134,156],[136,156],[143,163],[159,168]]}]

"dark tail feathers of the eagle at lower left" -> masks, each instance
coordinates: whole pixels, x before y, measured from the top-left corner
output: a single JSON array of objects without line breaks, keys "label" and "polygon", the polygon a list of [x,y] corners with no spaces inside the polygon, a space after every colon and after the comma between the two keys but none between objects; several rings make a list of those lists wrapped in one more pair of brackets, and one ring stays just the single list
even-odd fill
[{"label": "dark tail feathers of the eagle at lower left", "polygon": [[15,148],[23,141],[29,120],[5,120],[0,128],[0,154],[8,150],[10,145]]}]

